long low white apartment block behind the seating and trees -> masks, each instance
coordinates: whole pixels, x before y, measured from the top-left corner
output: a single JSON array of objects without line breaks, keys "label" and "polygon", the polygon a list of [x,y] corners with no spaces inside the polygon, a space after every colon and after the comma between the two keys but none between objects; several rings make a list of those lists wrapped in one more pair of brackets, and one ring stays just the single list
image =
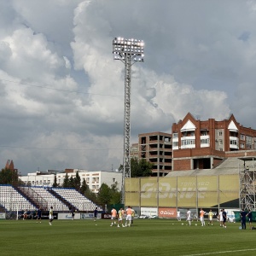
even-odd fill
[{"label": "long low white apartment block behind the seating and trees", "polygon": [[51,187],[55,181],[55,176],[57,183],[59,185],[63,184],[66,177],[76,177],[76,172],[79,172],[81,178],[81,183],[85,180],[86,184],[89,186],[90,190],[97,193],[101,188],[102,183],[106,183],[108,187],[115,182],[117,182],[117,187],[119,191],[122,185],[122,172],[108,172],[108,171],[85,171],[80,169],[73,169],[73,172],[32,172],[28,173],[26,176],[22,176],[21,180],[26,184],[31,184],[32,186],[49,186]]}]

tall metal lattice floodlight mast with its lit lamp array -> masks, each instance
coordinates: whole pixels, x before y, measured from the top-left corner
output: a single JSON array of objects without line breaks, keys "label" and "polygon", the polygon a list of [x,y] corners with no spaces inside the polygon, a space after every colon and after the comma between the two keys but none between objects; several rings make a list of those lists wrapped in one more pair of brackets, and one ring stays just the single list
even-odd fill
[{"label": "tall metal lattice floodlight mast with its lit lamp array", "polygon": [[144,42],[137,39],[114,38],[113,59],[125,64],[125,118],[124,118],[124,159],[122,175],[122,203],[125,203],[125,177],[131,177],[131,66],[144,61]]}]

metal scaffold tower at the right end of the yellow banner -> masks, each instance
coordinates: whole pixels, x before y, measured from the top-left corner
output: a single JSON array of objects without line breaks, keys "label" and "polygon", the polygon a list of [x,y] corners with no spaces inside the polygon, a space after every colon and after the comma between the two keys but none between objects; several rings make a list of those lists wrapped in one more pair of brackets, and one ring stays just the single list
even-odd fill
[{"label": "metal scaffold tower at the right end of the yellow banner", "polygon": [[255,211],[255,157],[242,157],[243,165],[239,168],[240,179],[240,207],[247,211]]}]

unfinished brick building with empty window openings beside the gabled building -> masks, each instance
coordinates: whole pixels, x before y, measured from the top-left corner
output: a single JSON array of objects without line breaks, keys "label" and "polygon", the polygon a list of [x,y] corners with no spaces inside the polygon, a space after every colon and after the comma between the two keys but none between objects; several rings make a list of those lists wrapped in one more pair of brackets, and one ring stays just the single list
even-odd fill
[{"label": "unfinished brick building with empty window openings beside the gabled building", "polygon": [[[133,146],[136,146],[134,144]],[[172,171],[172,134],[160,131],[138,135],[138,158],[154,164],[152,176],[166,176]]]}]

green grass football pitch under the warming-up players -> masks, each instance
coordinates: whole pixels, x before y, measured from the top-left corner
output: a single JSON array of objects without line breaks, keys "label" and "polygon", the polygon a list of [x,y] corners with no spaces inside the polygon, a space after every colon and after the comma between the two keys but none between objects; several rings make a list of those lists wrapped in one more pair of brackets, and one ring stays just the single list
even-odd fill
[{"label": "green grass football pitch under the warming-up players", "polygon": [[[166,219],[135,219],[130,228],[110,220],[1,220],[0,255],[255,255],[256,230],[191,226]],[[197,223],[197,226],[195,226]]]}]

